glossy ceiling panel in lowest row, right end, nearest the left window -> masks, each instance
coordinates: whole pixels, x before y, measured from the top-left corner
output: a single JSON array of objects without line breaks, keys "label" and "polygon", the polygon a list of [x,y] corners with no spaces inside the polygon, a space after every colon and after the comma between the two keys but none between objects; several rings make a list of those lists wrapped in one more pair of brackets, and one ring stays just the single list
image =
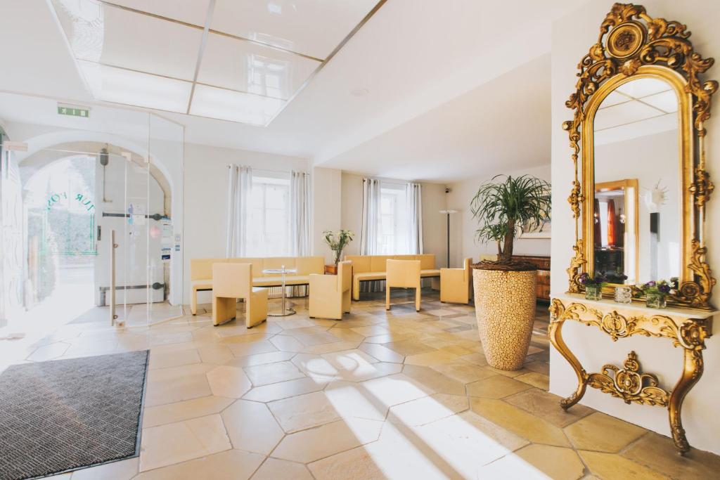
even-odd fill
[{"label": "glossy ceiling panel in lowest row, right end, nearest the left window", "polygon": [[265,126],[285,103],[266,96],[196,85],[190,114]]}]

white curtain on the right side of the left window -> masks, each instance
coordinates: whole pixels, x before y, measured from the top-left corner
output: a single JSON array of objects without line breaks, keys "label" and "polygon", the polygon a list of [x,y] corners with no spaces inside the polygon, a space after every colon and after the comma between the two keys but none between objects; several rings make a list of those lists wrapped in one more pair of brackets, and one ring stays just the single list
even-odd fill
[{"label": "white curtain on the right side of the left window", "polygon": [[[310,255],[310,175],[290,173],[290,248],[296,257]],[[307,286],[289,287],[287,295],[305,296]]]}]

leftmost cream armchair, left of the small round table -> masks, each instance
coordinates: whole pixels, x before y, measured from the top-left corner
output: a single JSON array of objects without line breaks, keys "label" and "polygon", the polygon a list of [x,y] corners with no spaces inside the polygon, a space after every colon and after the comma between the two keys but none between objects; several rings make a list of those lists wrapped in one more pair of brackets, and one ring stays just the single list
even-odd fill
[{"label": "leftmost cream armchair, left of the small round table", "polygon": [[233,320],[237,299],[245,300],[245,326],[250,328],[268,317],[267,289],[253,289],[251,263],[212,264],[212,325]]}]

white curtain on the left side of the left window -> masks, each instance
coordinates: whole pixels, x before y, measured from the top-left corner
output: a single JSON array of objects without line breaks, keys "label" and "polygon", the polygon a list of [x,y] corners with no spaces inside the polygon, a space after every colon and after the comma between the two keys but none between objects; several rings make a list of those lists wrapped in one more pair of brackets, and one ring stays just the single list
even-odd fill
[{"label": "white curtain on the left side of the left window", "polygon": [[228,218],[225,222],[225,256],[244,257],[248,245],[250,194],[253,170],[248,166],[228,166]]}]

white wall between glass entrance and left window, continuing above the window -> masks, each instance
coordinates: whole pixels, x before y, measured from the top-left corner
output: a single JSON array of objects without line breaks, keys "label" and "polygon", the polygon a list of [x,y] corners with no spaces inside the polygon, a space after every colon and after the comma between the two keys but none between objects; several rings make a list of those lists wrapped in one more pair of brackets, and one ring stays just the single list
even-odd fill
[{"label": "white wall between glass entrance and left window, continuing above the window", "polygon": [[[185,145],[185,289],[189,303],[190,258],[225,256],[225,224],[228,196],[228,165],[238,163],[260,173],[266,171],[307,171],[305,158],[249,152],[207,145]],[[200,292],[198,302],[210,302]]]}]

